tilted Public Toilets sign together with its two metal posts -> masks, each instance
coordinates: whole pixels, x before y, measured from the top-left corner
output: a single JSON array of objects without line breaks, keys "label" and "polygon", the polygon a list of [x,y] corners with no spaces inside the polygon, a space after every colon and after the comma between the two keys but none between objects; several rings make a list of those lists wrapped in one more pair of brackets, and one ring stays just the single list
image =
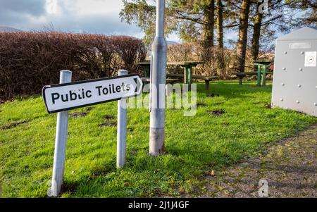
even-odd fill
[{"label": "tilted Public Toilets sign together with its two metal posts", "polygon": [[125,164],[127,135],[127,98],[142,92],[139,75],[128,75],[128,70],[119,70],[118,77],[71,82],[70,70],[61,71],[59,85],[43,87],[44,104],[49,113],[57,113],[53,175],[49,197],[57,197],[63,185],[66,141],[68,135],[68,111],[74,108],[118,101],[117,167]]}]

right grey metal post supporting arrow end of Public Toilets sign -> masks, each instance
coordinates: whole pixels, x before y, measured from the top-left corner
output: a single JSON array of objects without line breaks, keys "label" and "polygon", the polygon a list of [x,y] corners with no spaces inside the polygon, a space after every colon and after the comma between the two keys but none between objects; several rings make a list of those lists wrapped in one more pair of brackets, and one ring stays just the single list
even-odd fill
[{"label": "right grey metal post supporting arrow end of Public Toilets sign", "polygon": [[[128,75],[128,70],[119,70],[119,76]],[[117,168],[125,166],[127,137],[127,99],[118,100]]]}]

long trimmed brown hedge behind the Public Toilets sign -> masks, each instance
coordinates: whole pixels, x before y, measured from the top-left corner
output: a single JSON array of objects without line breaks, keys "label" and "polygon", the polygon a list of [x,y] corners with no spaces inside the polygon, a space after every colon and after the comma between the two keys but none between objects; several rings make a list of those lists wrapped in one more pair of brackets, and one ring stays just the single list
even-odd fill
[{"label": "long trimmed brown hedge behind the Public Toilets sign", "polygon": [[73,71],[73,81],[116,75],[120,68],[139,73],[135,64],[146,54],[134,37],[0,32],[0,100],[37,94],[58,83],[63,69]]}]

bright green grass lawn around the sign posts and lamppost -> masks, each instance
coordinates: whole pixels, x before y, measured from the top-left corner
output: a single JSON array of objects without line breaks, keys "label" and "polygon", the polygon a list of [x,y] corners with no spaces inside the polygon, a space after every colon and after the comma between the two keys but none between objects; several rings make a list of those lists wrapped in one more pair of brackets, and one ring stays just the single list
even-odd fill
[{"label": "bright green grass lawn around the sign posts and lamppost", "polygon": [[[207,97],[198,85],[196,116],[166,111],[166,151],[149,156],[149,113],[128,111],[127,164],[116,169],[116,102],[80,108],[70,117],[62,197],[180,197],[199,186],[205,171],[220,170],[268,144],[294,135],[317,118],[271,103],[271,86],[255,82],[213,82]],[[215,116],[211,111],[223,109]],[[109,118],[109,117],[108,117]],[[111,118],[111,117],[110,117]],[[25,122],[25,123],[23,123]],[[21,123],[16,125],[14,123]],[[46,113],[41,96],[0,105],[0,185],[2,197],[46,197],[54,158],[56,114]],[[1,194],[0,194],[1,195]]]}]

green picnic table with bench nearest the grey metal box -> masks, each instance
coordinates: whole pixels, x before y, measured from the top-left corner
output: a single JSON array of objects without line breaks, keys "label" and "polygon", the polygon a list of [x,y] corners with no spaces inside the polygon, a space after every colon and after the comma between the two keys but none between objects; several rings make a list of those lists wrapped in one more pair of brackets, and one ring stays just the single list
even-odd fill
[{"label": "green picnic table with bench nearest the grey metal box", "polygon": [[[263,75],[263,87],[266,87],[266,75],[273,73],[273,71],[268,71],[268,66],[271,64],[271,61],[256,61],[254,62],[254,66],[257,66],[258,70],[254,72],[238,72],[235,73],[237,77],[239,77],[239,85],[242,85],[242,80],[246,76],[251,76],[251,75],[256,75],[257,80],[256,80],[256,85],[258,87],[261,87],[261,76]],[[263,69],[261,70],[261,67]]]}]

